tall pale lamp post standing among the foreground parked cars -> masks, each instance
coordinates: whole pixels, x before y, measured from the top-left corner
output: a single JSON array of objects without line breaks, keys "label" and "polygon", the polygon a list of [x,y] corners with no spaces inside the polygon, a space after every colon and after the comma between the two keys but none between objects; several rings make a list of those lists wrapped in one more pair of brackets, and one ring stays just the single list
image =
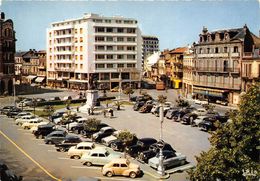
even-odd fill
[{"label": "tall pale lamp post standing among the foreground parked cars", "polygon": [[163,166],[163,147],[164,147],[164,142],[163,142],[163,135],[162,135],[162,123],[163,123],[163,104],[160,104],[160,141],[158,142],[158,146],[160,148],[159,151],[159,165],[157,168],[157,172],[161,175],[164,176],[165,175],[165,170],[164,170],[164,166]]}]

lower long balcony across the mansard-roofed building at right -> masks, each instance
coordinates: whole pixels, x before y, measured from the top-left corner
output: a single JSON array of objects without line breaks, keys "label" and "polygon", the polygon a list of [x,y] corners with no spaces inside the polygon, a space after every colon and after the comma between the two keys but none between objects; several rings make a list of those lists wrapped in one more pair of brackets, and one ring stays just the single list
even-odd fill
[{"label": "lower long balcony across the mansard-roofed building at right", "polygon": [[239,73],[239,68],[231,67],[193,67],[193,71],[197,72],[215,72],[215,73]]}]

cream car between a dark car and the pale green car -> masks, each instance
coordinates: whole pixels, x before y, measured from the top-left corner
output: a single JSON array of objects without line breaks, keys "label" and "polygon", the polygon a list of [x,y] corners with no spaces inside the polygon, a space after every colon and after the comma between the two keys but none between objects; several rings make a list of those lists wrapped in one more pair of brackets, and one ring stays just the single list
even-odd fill
[{"label": "cream car between a dark car and the pale green car", "polygon": [[81,142],[76,146],[70,147],[68,156],[74,159],[80,159],[84,153],[89,153],[95,148],[95,144],[92,142]]}]

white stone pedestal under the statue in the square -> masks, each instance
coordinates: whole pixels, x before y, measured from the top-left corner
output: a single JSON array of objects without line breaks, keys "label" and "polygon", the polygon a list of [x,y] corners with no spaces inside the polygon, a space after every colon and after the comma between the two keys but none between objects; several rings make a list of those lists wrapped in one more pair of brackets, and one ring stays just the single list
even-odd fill
[{"label": "white stone pedestal under the statue in the square", "polygon": [[87,90],[87,101],[86,104],[79,108],[80,112],[90,113],[91,108],[94,108],[98,99],[97,90]]}]

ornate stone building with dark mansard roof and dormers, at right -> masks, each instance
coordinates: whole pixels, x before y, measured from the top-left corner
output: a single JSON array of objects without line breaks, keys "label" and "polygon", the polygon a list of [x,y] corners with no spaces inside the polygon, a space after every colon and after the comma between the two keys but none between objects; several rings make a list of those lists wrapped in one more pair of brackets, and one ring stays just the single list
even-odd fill
[{"label": "ornate stone building with dark mansard roof and dormers, at right", "polygon": [[252,52],[252,33],[242,28],[209,32],[203,28],[194,43],[193,95],[238,104],[244,53]]}]

